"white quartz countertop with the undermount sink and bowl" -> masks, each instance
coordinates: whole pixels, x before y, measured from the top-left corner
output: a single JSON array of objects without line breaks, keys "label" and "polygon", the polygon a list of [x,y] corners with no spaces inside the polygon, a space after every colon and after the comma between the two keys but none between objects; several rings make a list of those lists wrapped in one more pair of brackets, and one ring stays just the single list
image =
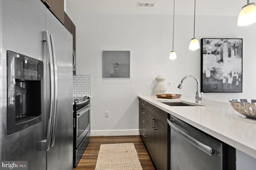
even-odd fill
[{"label": "white quartz countertop with the undermount sink and bowl", "polygon": [[195,98],[186,96],[178,99],[163,99],[151,95],[138,97],[256,158],[256,120],[236,112],[229,103],[204,100],[200,104],[202,106],[168,106],[161,102],[196,103]]}]

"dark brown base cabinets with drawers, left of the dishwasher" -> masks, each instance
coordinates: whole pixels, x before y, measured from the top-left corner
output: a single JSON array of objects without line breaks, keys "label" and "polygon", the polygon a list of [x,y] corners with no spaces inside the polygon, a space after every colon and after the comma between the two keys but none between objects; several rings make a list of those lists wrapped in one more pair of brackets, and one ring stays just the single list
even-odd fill
[{"label": "dark brown base cabinets with drawers, left of the dishwasher", "polygon": [[139,114],[139,131],[148,153],[158,170],[167,170],[168,113],[139,98]]}]

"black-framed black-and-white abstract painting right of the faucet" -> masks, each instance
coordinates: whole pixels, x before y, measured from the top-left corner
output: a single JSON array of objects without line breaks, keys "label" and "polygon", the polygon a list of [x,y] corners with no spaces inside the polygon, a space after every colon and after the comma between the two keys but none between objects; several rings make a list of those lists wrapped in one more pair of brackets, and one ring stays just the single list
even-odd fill
[{"label": "black-framed black-and-white abstract painting right of the faucet", "polygon": [[242,39],[201,39],[201,89],[242,93]]}]

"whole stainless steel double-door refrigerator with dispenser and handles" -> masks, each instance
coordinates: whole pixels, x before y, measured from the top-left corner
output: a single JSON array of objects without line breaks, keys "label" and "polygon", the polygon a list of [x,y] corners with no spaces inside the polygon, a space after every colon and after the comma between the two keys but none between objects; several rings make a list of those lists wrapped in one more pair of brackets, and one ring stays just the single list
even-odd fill
[{"label": "whole stainless steel double-door refrigerator with dispenser and handles", "polygon": [[0,161],[72,169],[72,43],[40,0],[0,0]]}]

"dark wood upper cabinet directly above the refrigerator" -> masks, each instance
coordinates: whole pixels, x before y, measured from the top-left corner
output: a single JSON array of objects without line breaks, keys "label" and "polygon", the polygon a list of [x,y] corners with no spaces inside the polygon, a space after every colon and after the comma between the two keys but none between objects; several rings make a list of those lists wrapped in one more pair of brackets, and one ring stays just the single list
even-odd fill
[{"label": "dark wood upper cabinet directly above the refrigerator", "polygon": [[41,0],[64,25],[64,0]]}]

